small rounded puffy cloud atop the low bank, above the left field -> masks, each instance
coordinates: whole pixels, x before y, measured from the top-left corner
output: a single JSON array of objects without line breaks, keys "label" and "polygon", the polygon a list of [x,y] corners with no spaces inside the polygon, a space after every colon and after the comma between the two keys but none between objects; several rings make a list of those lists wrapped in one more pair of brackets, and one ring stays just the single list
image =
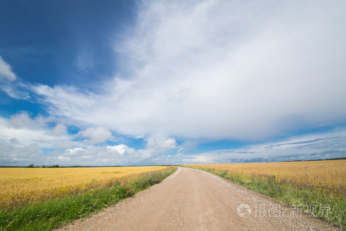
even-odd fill
[{"label": "small rounded puffy cloud atop the low bank, above the left field", "polygon": [[106,127],[87,128],[78,132],[77,136],[89,139],[90,143],[100,143],[112,138],[112,133]]}]

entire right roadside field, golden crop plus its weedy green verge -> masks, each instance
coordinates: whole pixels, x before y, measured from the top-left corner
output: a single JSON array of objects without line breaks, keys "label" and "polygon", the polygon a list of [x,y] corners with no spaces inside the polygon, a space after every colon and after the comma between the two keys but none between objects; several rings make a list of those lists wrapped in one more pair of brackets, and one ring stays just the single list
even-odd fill
[{"label": "entire right roadside field, golden crop plus its weedy green verge", "polygon": [[346,160],[185,166],[211,172],[346,228]]}]

